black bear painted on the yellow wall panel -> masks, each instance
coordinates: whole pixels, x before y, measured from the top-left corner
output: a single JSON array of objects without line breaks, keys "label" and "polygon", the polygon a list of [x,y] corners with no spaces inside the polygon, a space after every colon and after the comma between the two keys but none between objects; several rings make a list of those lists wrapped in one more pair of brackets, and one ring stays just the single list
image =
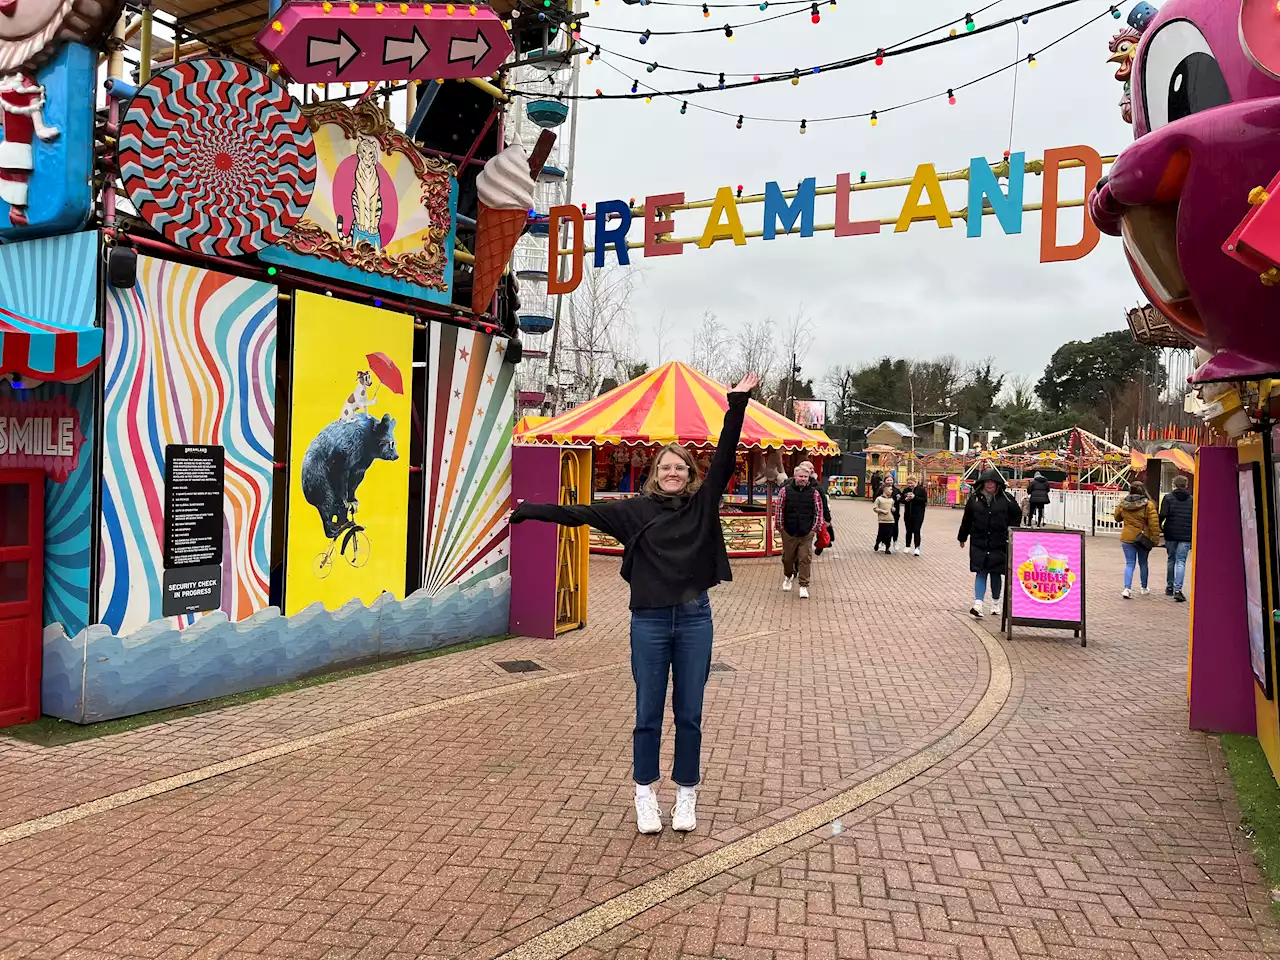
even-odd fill
[{"label": "black bear painted on the yellow wall panel", "polygon": [[302,495],[320,513],[324,534],[335,538],[348,524],[358,500],[356,490],[375,460],[399,460],[396,420],[361,413],[355,420],[334,420],[307,447],[302,457]]}]

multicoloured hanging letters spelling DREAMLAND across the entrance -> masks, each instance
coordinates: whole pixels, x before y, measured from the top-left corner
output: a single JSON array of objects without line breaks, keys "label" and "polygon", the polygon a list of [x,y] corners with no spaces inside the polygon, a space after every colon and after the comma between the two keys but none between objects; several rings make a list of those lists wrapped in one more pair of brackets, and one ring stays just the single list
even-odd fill
[{"label": "multicoloured hanging letters spelling DREAMLAND across the entrance", "polygon": [[[1041,206],[1041,262],[1062,262],[1079,260],[1087,256],[1098,244],[1098,228],[1085,214],[1084,233],[1078,243],[1061,244],[1057,242],[1057,211],[1062,206],[1082,206],[1082,201],[1060,201],[1059,179],[1060,173],[1066,166],[1084,169],[1085,195],[1102,178],[1102,156],[1087,146],[1057,147],[1044,151]],[[964,177],[969,182],[968,211],[983,211],[995,215],[1001,229],[1006,234],[1023,232],[1023,188],[1027,180],[1025,154],[1014,154],[1009,157],[1009,188],[1000,186],[1000,174],[1005,165],[992,168],[984,157],[975,157],[970,161],[968,173]],[[1039,164],[1033,164],[1033,170]],[[904,182],[905,183],[905,182]],[[867,186],[869,188],[870,184]],[[856,189],[850,174],[842,173],[836,178],[835,188],[818,189],[817,179],[810,177],[804,180],[788,197],[776,182],[764,186],[764,227],[760,237],[765,241],[776,239],[781,234],[796,232],[801,237],[812,237],[815,229],[833,230],[837,237],[865,237],[877,234],[883,225],[882,220],[852,220],[850,219],[849,200],[850,193]],[[835,224],[827,227],[814,227],[814,207],[818,195],[833,193],[836,197]],[[745,201],[744,201],[745,202]],[[696,239],[677,241],[672,234],[676,230],[673,210],[685,204],[684,193],[658,193],[645,197],[644,201],[644,243],[636,244],[644,250],[646,257],[678,256],[685,252],[687,243],[696,243],[707,250],[717,241],[732,239],[736,246],[746,244],[746,232],[742,229],[742,218],[739,214],[739,200],[731,187],[721,187],[712,201],[710,212],[707,216],[707,225],[701,236]],[[1032,207],[1033,210],[1036,207]],[[982,214],[969,214],[963,211],[968,221],[968,236],[982,236]],[[627,244],[627,233],[631,229],[635,214],[631,205],[622,200],[603,200],[595,205],[595,239],[593,248],[593,262],[596,268],[604,266],[605,251],[612,247],[618,262],[627,265],[631,262],[631,253]],[[940,228],[950,228],[954,215],[947,209],[946,197],[942,195],[942,183],[933,164],[920,164],[911,178],[902,210],[893,223],[895,233],[906,233],[913,223],[919,220],[934,220]],[[562,279],[559,271],[561,251],[554,238],[561,234],[563,224],[568,225],[570,246],[564,255],[570,257],[568,276]],[[582,282],[582,262],[586,253],[586,216],[576,206],[554,206],[548,214],[548,232],[553,238],[549,244],[550,262],[548,265],[548,293],[570,293],[577,289]]]}]

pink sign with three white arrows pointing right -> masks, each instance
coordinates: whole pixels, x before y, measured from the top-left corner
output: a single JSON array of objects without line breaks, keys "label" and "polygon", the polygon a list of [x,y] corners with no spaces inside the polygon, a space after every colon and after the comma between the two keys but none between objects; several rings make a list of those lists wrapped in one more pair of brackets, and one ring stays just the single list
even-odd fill
[{"label": "pink sign with three white arrows pointing right", "polygon": [[298,83],[488,77],[512,52],[488,6],[293,0],[257,45]]}]

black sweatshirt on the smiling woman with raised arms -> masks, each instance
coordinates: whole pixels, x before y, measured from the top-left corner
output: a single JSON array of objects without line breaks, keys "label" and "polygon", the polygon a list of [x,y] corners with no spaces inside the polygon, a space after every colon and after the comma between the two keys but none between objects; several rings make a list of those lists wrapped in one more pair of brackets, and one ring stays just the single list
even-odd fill
[{"label": "black sweatshirt on the smiling woman with raised arms", "polygon": [[[561,507],[521,503],[512,524],[543,520],[561,526],[593,526],[622,544],[622,579],[631,584],[631,609],[687,603],[716,584],[733,579],[724,548],[719,502],[733,477],[737,442],[750,394],[728,394],[719,443],[703,485],[691,497],[643,494]],[[649,521],[654,521],[645,527]]]}]

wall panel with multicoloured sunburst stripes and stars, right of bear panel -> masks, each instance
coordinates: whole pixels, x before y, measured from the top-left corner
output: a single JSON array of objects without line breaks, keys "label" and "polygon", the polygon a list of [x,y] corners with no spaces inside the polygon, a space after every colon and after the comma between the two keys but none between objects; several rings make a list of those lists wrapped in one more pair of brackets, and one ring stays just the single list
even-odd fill
[{"label": "wall panel with multicoloured sunburst stripes and stars, right of bear panel", "polygon": [[507,572],[515,367],[506,340],[433,323],[426,379],[422,590]]}]

